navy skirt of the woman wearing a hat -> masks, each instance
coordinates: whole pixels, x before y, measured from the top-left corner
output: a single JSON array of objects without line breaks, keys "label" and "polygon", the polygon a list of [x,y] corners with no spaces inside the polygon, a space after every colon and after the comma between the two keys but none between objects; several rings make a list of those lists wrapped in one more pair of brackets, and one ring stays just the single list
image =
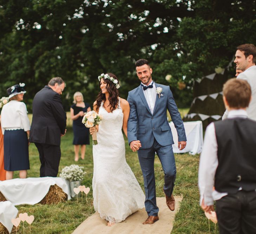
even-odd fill
[{"label": "navy skirt of the woman wearing a hat", "polygon": [[6,171],[29,169],[28,139],[24,129],[5,130],[4,163]]}]

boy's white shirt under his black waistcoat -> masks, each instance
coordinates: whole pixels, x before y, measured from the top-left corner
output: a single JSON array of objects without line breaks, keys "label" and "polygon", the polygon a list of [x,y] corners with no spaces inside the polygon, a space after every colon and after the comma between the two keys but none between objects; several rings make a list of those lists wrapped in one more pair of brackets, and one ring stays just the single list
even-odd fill
[{"label": "boy's white shirt under his black waistcoat", "polygon": [[[248,115],[246,111],[238,109],[230,111],[228,118],[248,118]],[[199,162],[198,186],[200,191],[200,205],[204,199],[206,206],[212,206],[214,205],[214,200],[219,200],[223,196],[228,195],[228,193],[219,193],[213,190],[215,173],[218,167],[217,150],[215,127],[212,122],[205,131],[204,145]],[[239,188],[239,190],[241,189],[242,187]]]}]

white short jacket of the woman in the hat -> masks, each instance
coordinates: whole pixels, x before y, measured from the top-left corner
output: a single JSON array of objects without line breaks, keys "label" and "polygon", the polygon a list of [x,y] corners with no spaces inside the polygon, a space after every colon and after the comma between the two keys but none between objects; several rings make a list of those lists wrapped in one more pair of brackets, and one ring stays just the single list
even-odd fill
[{"label": "white short jacket of the woman in the hat", "polygon": [[5,129],[24,129],[25,132],[30,130],[30,123],[27,116],[27,108],[24,102],[12,100],[2,107],[1,128],[3,135]]}]

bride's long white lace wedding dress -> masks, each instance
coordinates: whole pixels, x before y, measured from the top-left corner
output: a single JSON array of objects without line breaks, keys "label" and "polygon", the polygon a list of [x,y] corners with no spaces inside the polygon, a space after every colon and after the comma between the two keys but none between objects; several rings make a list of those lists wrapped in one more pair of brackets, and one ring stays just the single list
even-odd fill
[{"label": "bride's long white lace wedding dress", "polygon": [[98,145],[93,146],[93,206],[102,219],[118,223],[145,207],[145,195],[125,160],[120,98],[118,109],[108,113],[101,103],[99,114],[103,120],[97,132]]}]

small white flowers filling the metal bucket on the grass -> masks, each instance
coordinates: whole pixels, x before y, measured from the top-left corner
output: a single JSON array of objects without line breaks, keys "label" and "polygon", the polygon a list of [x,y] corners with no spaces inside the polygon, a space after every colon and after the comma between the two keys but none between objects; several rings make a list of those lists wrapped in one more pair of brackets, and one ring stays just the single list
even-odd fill
[{"label": "small white flowers filling the metal bucket on the grass", "polygon": [[71,166],[66,166],[61,170],[60,177],[68,181],[80,181],[84,179],[84,167],[72,164]]}]

